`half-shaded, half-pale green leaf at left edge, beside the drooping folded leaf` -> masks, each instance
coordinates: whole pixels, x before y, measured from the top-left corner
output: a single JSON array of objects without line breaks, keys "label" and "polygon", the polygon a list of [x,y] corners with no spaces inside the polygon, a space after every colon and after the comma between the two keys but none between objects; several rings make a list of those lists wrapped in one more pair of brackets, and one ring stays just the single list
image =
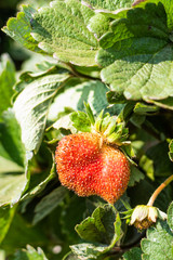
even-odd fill
[{"label": "half-shaded, half-pale green leaf at left edge, beside the drooping folded leaf", "polygon": [[21,128],[12,109],[3,114],[0,125],[0,206],[15,204],[29,181],[28,160],[21,140]]}]

